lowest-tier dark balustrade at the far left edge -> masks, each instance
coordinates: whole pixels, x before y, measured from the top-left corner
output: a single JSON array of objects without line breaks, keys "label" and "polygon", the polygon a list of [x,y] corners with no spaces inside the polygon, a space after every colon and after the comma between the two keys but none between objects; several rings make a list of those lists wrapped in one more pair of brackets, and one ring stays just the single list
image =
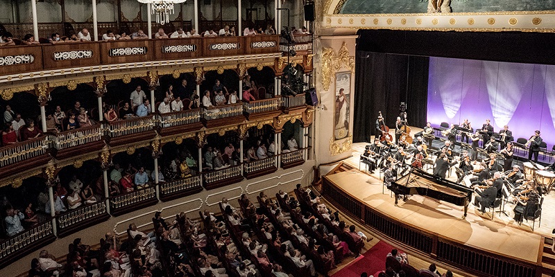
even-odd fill
[{"label": "lowest-tier dark balustrade at the far left edge", "polygon": [[4,265],[6,259],[15,259],[54,239],[51,220],[37,224],[0,242],[0,263]]}]

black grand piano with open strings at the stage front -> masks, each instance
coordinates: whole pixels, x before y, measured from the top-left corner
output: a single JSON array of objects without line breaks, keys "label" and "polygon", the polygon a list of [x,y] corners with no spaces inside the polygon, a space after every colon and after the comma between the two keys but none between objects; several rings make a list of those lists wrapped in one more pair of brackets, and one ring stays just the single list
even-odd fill
[{"label": "black grand piano with open strings at the stage front", "polygon": [[[464,217],[468,210],[468,203],[472,201],[473,190],[456,184],[438,176],[431,175],[418,168],[411,168],[404,175],[391,183],[391,190],[395,195],[424,195],[441,201],[464,207]],[[398,197],[395,197],[397,205]]]}]

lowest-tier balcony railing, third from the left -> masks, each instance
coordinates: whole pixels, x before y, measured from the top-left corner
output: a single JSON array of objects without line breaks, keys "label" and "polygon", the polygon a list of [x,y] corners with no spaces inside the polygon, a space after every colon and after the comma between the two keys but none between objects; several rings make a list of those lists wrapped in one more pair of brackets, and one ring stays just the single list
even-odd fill
[{"label": "lowest-tier balcony railing, third from the left", "polygon": [[110,213],[112,215],[123,215],[139,208],[152,206],[158,202],[154,186],[133,190],[123,195],[110,197]]}]

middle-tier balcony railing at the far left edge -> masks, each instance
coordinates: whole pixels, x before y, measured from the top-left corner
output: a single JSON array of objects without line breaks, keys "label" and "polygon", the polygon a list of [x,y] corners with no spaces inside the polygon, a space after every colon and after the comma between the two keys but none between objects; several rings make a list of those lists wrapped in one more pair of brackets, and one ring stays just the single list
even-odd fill
[{"label": "middle-tier balcony railing at the far left edge", "polygon": [[49,136],[41,136],[0,148],[0,166],[8,166],[46,154],[46,148],[49,148],[50,143]]}]

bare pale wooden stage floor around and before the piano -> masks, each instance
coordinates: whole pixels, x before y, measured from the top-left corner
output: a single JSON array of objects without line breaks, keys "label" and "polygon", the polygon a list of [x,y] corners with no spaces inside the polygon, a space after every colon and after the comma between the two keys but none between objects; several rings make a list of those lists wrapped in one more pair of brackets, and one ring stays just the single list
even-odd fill
[{"label": "bare pale wooden stage floor around and before the piano", "polygon": [[[363,147],[364,148],[364,147]],[[353,197],[376,208],[390,217],[419,229],[451,238],[471,247],[484,249],[503,256],[536,262],[540,253],[541,235],[475,215],[469,208],[466,219],[463,209],[436,199],[413,195],[407,202],[395,201],[388,190],[382,194],[382,181],[358,170],[339,172],[328,176],[337,186]],[[497,216],[497,213],[495,214]]]}]

